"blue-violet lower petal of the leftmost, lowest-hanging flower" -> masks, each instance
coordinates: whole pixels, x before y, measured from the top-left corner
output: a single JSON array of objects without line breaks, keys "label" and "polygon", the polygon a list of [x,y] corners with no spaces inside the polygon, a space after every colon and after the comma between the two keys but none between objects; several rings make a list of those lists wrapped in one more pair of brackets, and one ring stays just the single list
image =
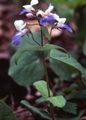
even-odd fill
[{"label": "blue-violet lower petal of the leftmost, lowest-hanging flower", "polygon": [[12,44],[17,46],[21,43],[21,40],[22,40],[22,34],[20,32],[17,32],[12,38]]}]

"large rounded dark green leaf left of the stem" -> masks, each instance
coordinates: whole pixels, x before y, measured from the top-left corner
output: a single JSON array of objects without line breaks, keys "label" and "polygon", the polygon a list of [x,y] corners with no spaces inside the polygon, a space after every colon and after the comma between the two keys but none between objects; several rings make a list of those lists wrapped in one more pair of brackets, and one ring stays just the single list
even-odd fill
[{"label": "large rounded dark green leaf left of the stem", "polygon": [[10,62],[9,75],[19,85],[32,85],[44,75],[44,67],[34,52],[16,52]]}]

